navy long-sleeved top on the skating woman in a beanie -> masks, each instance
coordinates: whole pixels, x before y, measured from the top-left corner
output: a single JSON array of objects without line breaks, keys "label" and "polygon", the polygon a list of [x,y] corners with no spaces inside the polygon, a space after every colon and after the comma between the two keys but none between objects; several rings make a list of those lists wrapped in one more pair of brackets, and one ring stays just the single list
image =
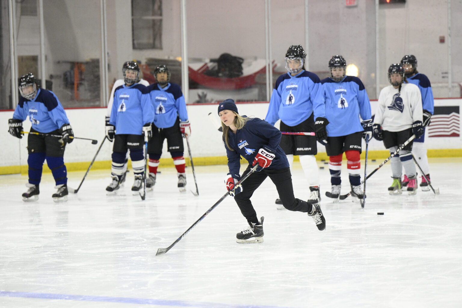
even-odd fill
[{"label": "navy long-sleeved top on the skating woman in a beanie", "polygon": [[243,128],[236,133],[229,130],[229,144],[234,151],[226,148],[228,157],[228,168],[231,173],[238,174],[241,167],[240,158],[244,157],[250,164],[253,163],[255,156],[263,146],[274,150],[274,159],[268,169],[289,168],[286,153],[279,146],[281,132],[273,125],[262,121],[259,118],[249,119]]}]

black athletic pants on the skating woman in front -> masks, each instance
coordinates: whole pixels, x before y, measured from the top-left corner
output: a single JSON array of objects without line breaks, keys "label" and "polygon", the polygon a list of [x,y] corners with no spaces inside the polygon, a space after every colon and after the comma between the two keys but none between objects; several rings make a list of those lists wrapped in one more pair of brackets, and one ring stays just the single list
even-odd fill
[{"label": "black athletic pants on the skating woman in front", "polygon": [[[247,167],[243,175],[249,172],[251,166]],[[279,193],[282,205],[289,211],[308,212],[311,211],[311,205],[306,201],[297,199],[293,195],[292,175],[289,168],[284,169],[263,169],[260,172],[252,173],[243,183],[243,191],[234,196],[237,206],[242,215],[247,218],[249,223],[258,223],[257,213],[250,201],[255,189],[269,176]]]}]

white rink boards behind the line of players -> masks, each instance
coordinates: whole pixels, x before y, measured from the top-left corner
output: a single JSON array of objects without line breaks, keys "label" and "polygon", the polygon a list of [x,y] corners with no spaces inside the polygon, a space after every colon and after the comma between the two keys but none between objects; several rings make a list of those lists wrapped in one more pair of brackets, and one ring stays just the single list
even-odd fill
[{"label": "white rink boards behind the line of players", "polygon": [[[372,111],[376,108],[376,101],[371,102]],[[435,101],[435,106],[460,106],[462,110],[462,99],[439,99]],[[188,105],[188,115],[191,121],[192,135],[189,139],[191,153],[194,157],[215,157],[225,156],[225,149],[221,142],[221,133],[209,120],[208,114],[217,114],[218,105],[201,104]],[[239,114],[255,116],[263,119],[268,109],[268,103],[238,103]],[[76,137],[97,139],[98,145],[92,145],[90,141],[74,140],[67,145],[65,152],[65,162],[90,162],[97,151],[99,142],[104,138],[104,115],[106,109],[67,109],[67,117],[71,122]],[[0,112],[0,144],[4,146],[1,151],[0,166],[14,166],[27,164],[27,138],[21,140],[6,133],[8,131],[8,119],[12,117],[12,111]],[[278,126],[279,123],[276,123]],[[29,120],[24,121],[24,130],[30,128]],[[461,149],[462,138],[427,138],[427,149]],[[164,146],[165,149],[165,146]],[[188,156],[185,143],[185,157]],[[371,140],[369,149],[384,150],[383,143]],[[318,151],[325,152],[322,145],[318,143]],[[97,161],[110,160],[112,153],[112,143],[105,142],[101,149]],[[164,152],[163,158],[169,158],[169,154]]]}]

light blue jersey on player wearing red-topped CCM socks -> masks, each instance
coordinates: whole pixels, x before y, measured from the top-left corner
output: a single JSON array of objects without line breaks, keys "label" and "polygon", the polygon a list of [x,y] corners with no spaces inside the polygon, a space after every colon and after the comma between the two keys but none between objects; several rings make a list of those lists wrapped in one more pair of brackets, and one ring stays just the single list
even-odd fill
[{"label": "light blue jersey on player wearing red-topped CCM socks", "polygon": [[340,82],[331,78],[322,79],[322,94],[329,124],[329,137],[346,136],[362,132],[361,119],[371,119],[371,102],[363,83],[358,77],[345,76]]}]

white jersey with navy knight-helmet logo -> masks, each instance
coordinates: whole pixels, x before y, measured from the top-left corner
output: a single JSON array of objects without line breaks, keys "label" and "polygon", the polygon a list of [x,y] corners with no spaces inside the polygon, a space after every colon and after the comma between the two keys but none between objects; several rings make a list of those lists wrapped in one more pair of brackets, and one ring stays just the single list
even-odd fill
[{"label": "white jersey with navy knight-helmet logo", "polygon": [[413,122],[422,121],[422,97],[417,85],[402,84],[401,92],[392,85],[380,91],[374,124],[389,132],[411,128]]}]

